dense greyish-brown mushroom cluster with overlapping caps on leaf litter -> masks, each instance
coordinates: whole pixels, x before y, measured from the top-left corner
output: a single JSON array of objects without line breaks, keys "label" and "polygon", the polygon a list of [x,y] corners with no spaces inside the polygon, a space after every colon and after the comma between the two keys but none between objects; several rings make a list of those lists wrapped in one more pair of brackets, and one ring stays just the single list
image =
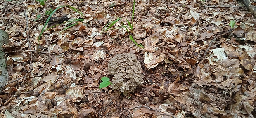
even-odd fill
[{"label": "dense greyish-brown mushroom cluster with overlapping caps on leaf litter", "polygon": [[119,93],[123,92],[125,96],[129,92],[134,92],[137,85],[144,83],[140,62],[135,54],[116,54],[115,57],[109,60],[108,71],[114,75],[111,88],[119,90]]}]

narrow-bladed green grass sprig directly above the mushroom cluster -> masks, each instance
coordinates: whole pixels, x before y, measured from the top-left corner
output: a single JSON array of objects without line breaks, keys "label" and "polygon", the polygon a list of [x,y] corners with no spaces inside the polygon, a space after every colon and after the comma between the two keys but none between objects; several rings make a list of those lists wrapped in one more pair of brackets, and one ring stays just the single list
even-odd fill
[{"label": "narrow-bladed green grass sprig directly above the mushroom cluster", "polygon": [[[134,18],[134,9],[135,9],[135,0],[133,0],[132,21],[133,21],[133,18]],[[107,31],[107,30],[116,29],[116,28],[112,28],[112,29],[109,29],[109,28],[111,28],[114,24],[116,24],[117,21],[119,21],[119,20],[121,20],[121,19],[122,19],[122,18],[119,18],[119,19],[116,19],[116,20],[113,21],[113,22],[108,23],[106,26],[104,26],[103,30],[104,30],[104,31]],[[126,19],[126,21],[127,21],[128,25],[125,25],[123,22],[121,22],[121,25],[122,25],[123,28],[126,29],[127,32],[130,33],[130,35],[129,35],[130,40],[132,40],[133,43],[135,43],[138,47],[144,48],[141,44],[138,44],[138,43],[136,42],[136,39],[135,39],[135,38],[133,38],[133,35],[132,35],[132,33],[133,33],[133,24],[131,24],[131,22],[128,21],[128,19]],[[108,27],[107,27],[107,26],[108,26]],[[107,27],[107,28],[106,28],[106,27]],[[120,28],[122,28],[122,27],[120,27]]]}]

